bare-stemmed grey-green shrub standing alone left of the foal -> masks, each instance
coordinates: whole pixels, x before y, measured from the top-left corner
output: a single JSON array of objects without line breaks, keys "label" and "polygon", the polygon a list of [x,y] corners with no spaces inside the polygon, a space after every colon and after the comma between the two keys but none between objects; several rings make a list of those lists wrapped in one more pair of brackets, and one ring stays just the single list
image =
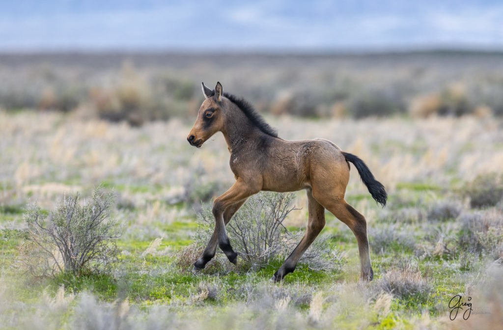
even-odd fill
[{"label": "bare-stemmed grey-green shrub standing alone left of the foal", "polygon": [[95,273],[116,260],[121,232],[110,218],[111,195],[98,189],[88,203],[80,205],[79,199],[65,196],[49,216],[36,204],[29,207],[23,256],[33,275]]}]

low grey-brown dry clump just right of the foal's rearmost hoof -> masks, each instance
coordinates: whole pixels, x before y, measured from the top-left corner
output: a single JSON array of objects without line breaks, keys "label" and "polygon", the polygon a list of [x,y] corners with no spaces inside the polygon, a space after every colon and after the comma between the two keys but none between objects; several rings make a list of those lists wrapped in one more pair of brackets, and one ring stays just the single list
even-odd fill
[{"label": "low grey-brown dry clump just right of the foal's rearmost hoof", "polygon": [[410,264],[388,270],[379,281],[380,288],[400,299],[427,299],[431,285],[421,272]]}]

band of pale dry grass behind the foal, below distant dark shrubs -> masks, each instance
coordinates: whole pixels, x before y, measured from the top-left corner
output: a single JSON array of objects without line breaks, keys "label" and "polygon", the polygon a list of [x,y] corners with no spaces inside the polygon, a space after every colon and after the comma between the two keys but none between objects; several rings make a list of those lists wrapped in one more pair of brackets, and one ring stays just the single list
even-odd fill
[{"label": "band of pale dry grass behind the foal, below distant dark shrubs", "polygon": [[[358,155],[391,193],[402,183],[448,188],[451,182],[503,173],[503,149],[497,143],[503,141],[499,120],[431,117],[317,122],[278,117],[269,121],[283,138],[326,138]],[[216,134],[196,149],[186,141],[189,129],[176,119],[130,128],[56,113],[0,112],[0,201],[12,203],[11,197],[16,196],[24,203],[31,197],[50,207],[43,203],[52,203],[55,195],[101,183],[121,186],[124,203],[142,207],[155,199],[176,203],[223,193],[234,181],[224,139]],[[197,174],[194,169],[199,169]],[[367,194],[354,168],[351,173],[348,194]],[[202,195],[187,191],[196,186]],[[305,204],[303,197],[299,204]]]}]

